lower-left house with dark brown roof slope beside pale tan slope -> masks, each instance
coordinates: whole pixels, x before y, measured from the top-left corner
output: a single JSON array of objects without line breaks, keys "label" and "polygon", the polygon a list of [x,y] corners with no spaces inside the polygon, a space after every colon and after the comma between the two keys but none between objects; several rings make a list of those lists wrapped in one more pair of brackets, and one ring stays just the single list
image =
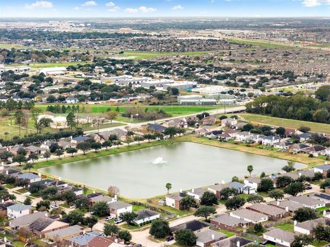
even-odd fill
[{"label": "lower-left house with dark brown roof slope beside pale tan slope", "polygon": [[62,222],[60,220],[54,220],[50,217],[39,217],[34,220],[29,226],[30,231],[36,235],[45,235],[45,233],[50,233],[52,231],[60,230],[69,227],[70,224],[67,222]]}]

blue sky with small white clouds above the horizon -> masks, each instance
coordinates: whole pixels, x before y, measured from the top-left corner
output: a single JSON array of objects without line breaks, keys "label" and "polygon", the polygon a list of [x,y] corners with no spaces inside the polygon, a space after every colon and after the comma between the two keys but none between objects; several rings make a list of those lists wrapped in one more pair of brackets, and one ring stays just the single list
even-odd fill
[{"label": "blue sky with small white clouds above the horizon", "polygon": [[0,0],[0,17],[330,16],[330,0]]}]

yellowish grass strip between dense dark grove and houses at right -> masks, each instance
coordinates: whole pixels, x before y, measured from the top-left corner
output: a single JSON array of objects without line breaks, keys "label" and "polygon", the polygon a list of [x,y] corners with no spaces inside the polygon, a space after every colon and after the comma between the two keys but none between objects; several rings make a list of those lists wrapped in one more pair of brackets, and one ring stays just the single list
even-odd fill
[{"label": "yellowish grass strip between dense dark grove and houses at right", "polygon": [[242,113],[239,114],[247,121],[252,121],[254,124],[267,124],[270,126],[283,126],[285,128],[299,128],[300,126],[307,126],[313,132],[321,132],[330,134],[330,124],[320,124],[310,121],[300,121],[294,119],[282,119],[279,117],[269,117],[264,115]]}]

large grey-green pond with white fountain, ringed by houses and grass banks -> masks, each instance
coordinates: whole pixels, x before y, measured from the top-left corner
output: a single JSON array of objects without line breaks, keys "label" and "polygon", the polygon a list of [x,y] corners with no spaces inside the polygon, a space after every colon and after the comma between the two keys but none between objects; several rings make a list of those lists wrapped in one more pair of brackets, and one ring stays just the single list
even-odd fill
[{"label": "large grey-green pond with white fountain, ringed by houses and grass banks", "polygon": [[[259,176],[261,172],[279,172],[286,164],[287,161],[278,158],[184,142],[65,163],[40,171],[98,189],[116,186],[129,198],[149,198],[165,194],[166,183],[173,185],[171,191],[205,187],[230,181],[232,176],[243,178],[248,175],[248,165],[254,167],[252,175]],[[295,167],[305,165],[296,163]]]}]

